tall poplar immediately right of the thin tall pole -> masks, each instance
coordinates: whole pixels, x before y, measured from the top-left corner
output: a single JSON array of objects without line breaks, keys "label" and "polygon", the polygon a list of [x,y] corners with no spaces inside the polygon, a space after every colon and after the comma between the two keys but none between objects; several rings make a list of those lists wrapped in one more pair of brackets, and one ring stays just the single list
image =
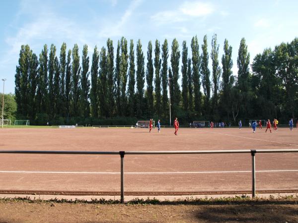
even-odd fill
[{"label": "tall poplar immediately right of the thin tall pole", "polygon": [[173,104],[173,113],[176,114],[176,111],[179,107],[180,98],[181,98],[181,92],[180,87],[178,84],[179,79],[179,59],[180,59],[180,51],[179,51],[179,44],[176,39],[172,42],[172,52],[171,52],[171,67],[172,67],[172,73],[173,73],[173,98],[172,104]]}]

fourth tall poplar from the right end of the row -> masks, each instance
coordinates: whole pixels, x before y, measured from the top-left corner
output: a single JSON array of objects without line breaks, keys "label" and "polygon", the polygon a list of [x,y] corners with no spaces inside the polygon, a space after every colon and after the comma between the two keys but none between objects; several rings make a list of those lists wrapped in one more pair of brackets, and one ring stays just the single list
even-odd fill
[{"label": "fourth tall poplar from the right end of the row", "polygon": [[209,60],[209,54],[208,54],[208,44],[207,44],[207,35],[204,36],[204,44],[202,45],[202,60],[201,60],[201,74],[202,74],[202,85],[204,89],[204,95],[205,95],[205,113],[210,113],[210,89],[211,89],[211,83],[210,83],[210,70],[208,67],[208,60]]}]

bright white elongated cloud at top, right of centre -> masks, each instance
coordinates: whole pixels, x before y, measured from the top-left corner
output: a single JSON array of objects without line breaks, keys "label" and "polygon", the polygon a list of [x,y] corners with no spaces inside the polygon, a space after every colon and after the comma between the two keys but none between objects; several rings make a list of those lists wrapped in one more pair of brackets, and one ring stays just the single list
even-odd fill
[{"label": "bright white elongated cloud at top, right of centre", "polygon": [[211,3],[201,1],[184,1],[174,10],[157,12],[151,19],[158,24],[175,23],[189,20],[195,17],[204,17],[212,14],[215,7]]}]

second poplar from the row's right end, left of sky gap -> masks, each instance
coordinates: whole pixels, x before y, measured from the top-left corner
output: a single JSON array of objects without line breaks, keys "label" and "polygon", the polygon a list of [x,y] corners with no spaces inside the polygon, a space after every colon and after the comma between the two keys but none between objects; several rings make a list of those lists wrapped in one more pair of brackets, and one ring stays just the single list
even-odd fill
[{"label": "second poplar from the row's right end, left of sky gap", "polygon": [[221,105],[229,119],[231,111],[231,89],[233,86],[234,77],[232,76],[232,47],[228,45],[228,41],[224,40],[224,55],[222,56],[223,65],[223,81],[222,81],[222,99]]}]

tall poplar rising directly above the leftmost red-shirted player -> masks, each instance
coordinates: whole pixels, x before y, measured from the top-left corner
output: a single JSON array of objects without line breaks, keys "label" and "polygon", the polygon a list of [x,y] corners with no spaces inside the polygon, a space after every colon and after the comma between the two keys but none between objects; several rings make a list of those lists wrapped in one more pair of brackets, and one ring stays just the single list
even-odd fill
[{"label": "tall poplar rising directly above the leftmost red-shirted player", "polygon": [[151,117],[154,112],[153,107],[153,60],[152,60],[152,43],[149,41],[147,51],[147,70],[146,70],[146,82],[147,82],[147,105],[148,115]]}]

